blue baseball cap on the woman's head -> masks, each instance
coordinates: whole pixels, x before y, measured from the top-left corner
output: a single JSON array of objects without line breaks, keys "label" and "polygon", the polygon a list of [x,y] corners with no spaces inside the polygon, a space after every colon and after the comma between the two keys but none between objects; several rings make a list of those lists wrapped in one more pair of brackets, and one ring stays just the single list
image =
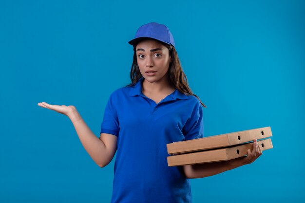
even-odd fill
[{"label": "blue baseball cap on the woman's head", "polygon": [[142,25],[136,31],[135,37],[128,43],[135,45],[143,38],[152,38],[175,46],[175,42],[169,28],[166,27],[166,25],[162,25],[156,22],[150,22]]}]

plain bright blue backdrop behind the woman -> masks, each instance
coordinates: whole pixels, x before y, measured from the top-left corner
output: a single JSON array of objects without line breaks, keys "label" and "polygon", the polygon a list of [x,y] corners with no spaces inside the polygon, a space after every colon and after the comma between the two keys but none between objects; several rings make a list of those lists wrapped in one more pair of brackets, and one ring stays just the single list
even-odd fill
[{"label": "plain bright blue backdrop behind the woman", "polygon": [[0,0],[0,202],[110,202],[100,168],[65,115],[99,136],[111,92],[127,85],[127,42],[166,24],[189,84],[208,106],[206,136],[270,126],[253,164],[191,180],[193,203],[305,201],[305,1]]}]

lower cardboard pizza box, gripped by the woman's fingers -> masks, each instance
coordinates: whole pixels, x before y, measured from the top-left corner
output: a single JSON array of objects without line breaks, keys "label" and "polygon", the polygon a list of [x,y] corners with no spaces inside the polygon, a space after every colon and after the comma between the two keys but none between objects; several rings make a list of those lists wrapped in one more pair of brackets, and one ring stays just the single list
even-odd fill
[{"label": "lower cardboard pizza box, gripped by the woman's fingers", "polygon": [[[273,148],[271,139],[258,141],[260,148],[267,150]],[[211,149],[187,154],[172,155],[167,157],[168,166],[183,166],[189,164],[202,164],[209,162],[228,161],[246,156],[248,149],[252,150],[253,142],[231,148]]]}]

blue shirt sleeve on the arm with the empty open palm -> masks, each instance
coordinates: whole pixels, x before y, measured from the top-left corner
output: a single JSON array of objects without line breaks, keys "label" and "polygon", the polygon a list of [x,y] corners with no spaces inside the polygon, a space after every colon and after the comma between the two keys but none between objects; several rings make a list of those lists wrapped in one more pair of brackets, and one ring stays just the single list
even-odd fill
[{"label": "blue shirt sleeve on the arm with the empty open palm", "polygon": [[119,122],[117,118],[117,111],[115,109],[115,98],[114,95],[111,94],[104,111],[100,133],[108,133],[118,136],[118,132]]}]

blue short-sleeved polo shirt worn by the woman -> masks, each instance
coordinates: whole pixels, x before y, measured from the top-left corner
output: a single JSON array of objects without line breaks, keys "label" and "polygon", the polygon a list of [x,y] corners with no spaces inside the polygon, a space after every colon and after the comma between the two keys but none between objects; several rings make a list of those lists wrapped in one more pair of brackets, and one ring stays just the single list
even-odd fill
[{"label": "blue short-sleeved polo shirt worn by the woman", "polygon": [[156,104],[134,86],[114,91],[101,133],[117,136],[112,203],[191,203],[182,166],[169,167],[166,144],[203,136],[202,106],[175,90]]}]

